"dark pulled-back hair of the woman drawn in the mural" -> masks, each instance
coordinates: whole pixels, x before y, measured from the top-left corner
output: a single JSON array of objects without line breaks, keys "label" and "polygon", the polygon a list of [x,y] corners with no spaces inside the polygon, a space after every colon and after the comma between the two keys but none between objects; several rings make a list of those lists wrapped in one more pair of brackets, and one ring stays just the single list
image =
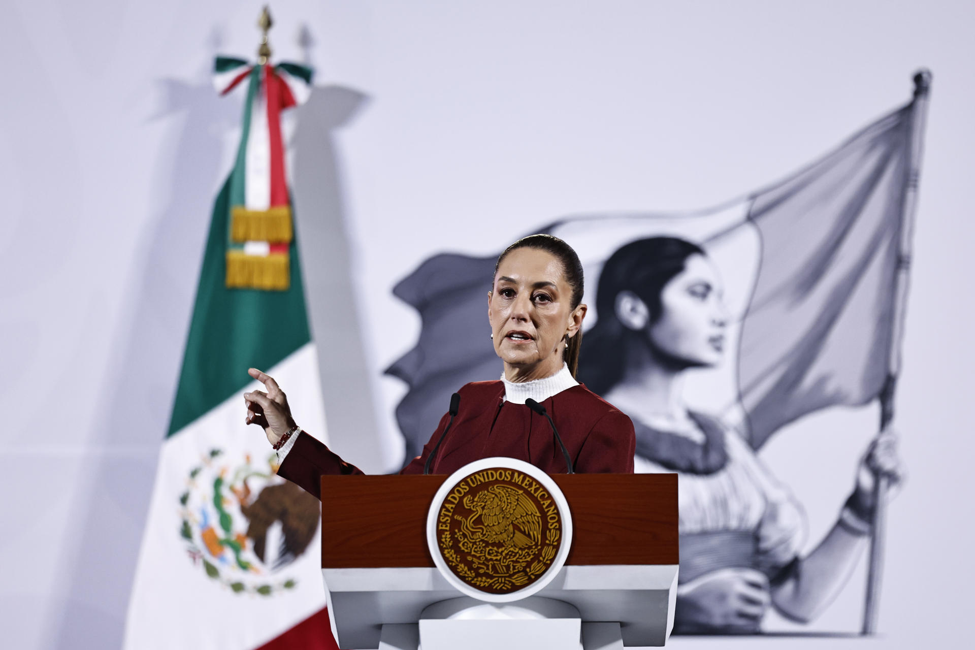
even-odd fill
[{"label": "dark pulled-back hair of the woman drawn in the mural", "polygon": [[589,390],[604,395],[623,377],[631,331],[616,318],[616,296],[630,290],[646,303],[650,323],[663,312],[660,294],[683,272],[687,258],[705,254],[677,237],[650,237],[617,249],[603,266],[596,293],[596,325],[589,330],[580,376]]}]

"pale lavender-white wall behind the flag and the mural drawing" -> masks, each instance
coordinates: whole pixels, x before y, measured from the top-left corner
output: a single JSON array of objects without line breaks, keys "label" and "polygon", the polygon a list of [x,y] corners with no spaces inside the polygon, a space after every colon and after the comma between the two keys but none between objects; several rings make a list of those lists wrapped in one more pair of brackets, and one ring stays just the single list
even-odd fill
[{"label": "pale lavender-white wall behind the flag and the mural drawing", "polygon": [[[253,56],[259,5],[4,3],[9,647],[120,643],[212,202],[239,126],[239,97],[216,97],[209,69],[217,52]],[[390,289],[420,261],[496,252],[566,214],[721,203],[903,103],[914,70],[931,68],[897,401],[910,479],[890,510],[876,644],[956,645],[975,575],[975,7],[293,0],[272,11],[275,57],[318,70],[318,100],[295,116],[298,228],[331,440],[370,471],[402,461],[392,408],[405,387],[381,372],[419,331]],[[763,448],[806,507],[810,543],[835,518],[876,421],[874,408],[836,409]],[[854,631],[862,585],[861,562],[815,624],[766,627]]]}]

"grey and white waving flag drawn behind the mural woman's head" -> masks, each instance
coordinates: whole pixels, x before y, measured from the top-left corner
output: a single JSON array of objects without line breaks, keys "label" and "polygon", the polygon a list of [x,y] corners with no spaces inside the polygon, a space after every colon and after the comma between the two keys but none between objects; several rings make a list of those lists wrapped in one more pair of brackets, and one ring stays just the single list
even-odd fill
[{"label": "grey and white waving flag drawn behind the mural woman's head", "polygon": [[[604,261],[630,242],[677,236],[718,262],[738,339],[722,378],[691,386],[690,401],[706,400],[711,410],[740,407],[758,447],[806,413],[877,398],[894,343],[915,105],[785,181],[718,209],[582,215],[544,228],[582,259],[587,326],[599,320],[592,309]],[[469,334],[485,326],[495,258],[439,254],[394,288],[422,319],[416,346],[387,369],[409,385],[397,408],[408,458],[436,429],[456,386],[500,373],[490,347]]]}]

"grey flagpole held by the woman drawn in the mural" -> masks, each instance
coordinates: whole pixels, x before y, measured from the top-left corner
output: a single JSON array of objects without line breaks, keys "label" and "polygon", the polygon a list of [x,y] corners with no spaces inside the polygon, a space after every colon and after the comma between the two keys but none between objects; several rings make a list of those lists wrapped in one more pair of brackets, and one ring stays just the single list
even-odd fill
[{"label": "grey flagpole held by the woman drawn in the mural", "polygon": [[[897,278],[894,286],[893,327],[890,356],[887,362],[887,378],[880,391],[880,431],[894,419],[894,393],[901,371],[901,340],[904,337],[904,318],[907,309],[908,286],[911,272],[911,250],[917,211],[917,181],[920,177],[920,156],[927,121],[928,93],[931,89],[931,72],[920,69],[914,76],[914,105],[911,111],[911,141],[909,146],[908,182],[904,189],[901,213],[901,239],[897,256]],[[886,533],[886,494],[890,479],[878,476],[874,485],[874,521],[870,538],[870,568],[867,574],[867,596],[863,612],[863,634],[877,631],[880,599],[880,574],[883,567],[883,547]]]}]

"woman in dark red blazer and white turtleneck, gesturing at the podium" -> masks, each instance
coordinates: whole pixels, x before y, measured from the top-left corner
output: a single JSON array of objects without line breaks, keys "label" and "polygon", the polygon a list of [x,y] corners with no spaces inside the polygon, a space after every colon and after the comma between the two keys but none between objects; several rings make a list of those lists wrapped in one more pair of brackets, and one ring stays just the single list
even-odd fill
[{"label": "woman in dark red blazer and white turtleneck, gesturing at the podium", "polygon": [[[531,235],[505,249],[487,292],[485,328],[504,373],[460,387],[459,402],[454,398],[402,474],[450,474],[491,456],[523,460],[548,474],[632,473],[630,418],[575,379],[586,316],[582,294],[582,264],[564,241]],[[247,422],[262,427],[277,450],[280,476],[321,497],[322,475],[362,474],[301,431],[273,378],[249,372],[266,390],[244,395]]]}]

